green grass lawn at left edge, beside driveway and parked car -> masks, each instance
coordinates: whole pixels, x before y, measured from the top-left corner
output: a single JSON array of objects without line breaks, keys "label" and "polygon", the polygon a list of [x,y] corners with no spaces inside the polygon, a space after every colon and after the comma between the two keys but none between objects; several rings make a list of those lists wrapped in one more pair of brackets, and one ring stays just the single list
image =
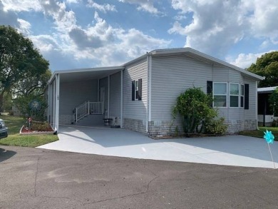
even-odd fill
[{"label": "green grass lawn at left edge, beside driveway and parked car", "polygon": [[8,127],[9,136],[0,139],[0,145],[36,147],[53,141],[58,141],[58,136],[53,134],[21,136],[19,131],[25,124],[23,118],[17,116],[0,116]]}]

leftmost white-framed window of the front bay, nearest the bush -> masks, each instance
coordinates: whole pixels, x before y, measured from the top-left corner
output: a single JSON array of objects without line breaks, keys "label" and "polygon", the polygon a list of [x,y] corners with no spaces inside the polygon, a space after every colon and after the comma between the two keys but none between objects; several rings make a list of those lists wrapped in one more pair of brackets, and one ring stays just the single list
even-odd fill
[{"label": "leftmost white-framed window of the front bay, nearest the bush", "polygon": [[227,83],[213,83],[213,106],[227,107]]}]

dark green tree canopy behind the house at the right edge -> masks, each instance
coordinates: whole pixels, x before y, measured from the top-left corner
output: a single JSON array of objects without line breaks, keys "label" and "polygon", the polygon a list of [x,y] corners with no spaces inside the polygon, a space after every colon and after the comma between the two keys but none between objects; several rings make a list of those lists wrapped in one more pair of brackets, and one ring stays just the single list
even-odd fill
[{"label": "dark green tree canopy behind the house at the right edge", "polygon": [[265,77],[258,87],[278,86],[278,51],[264,53],[247,71]]}]

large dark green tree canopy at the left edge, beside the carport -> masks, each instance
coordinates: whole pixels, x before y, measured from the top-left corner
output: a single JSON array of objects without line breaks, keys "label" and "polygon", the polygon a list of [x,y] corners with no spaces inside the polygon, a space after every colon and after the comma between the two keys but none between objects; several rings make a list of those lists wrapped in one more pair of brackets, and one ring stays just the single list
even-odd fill
[{"label": "large dark green tree canopy at the left edge, beside the carport", "polygon": [[42,76],[49,74],[48,66],[30,39],[11,26],[0,26],[0,106],[5,92],[21,89],[24,95],[34,91],[34,83],[45,82]]}]

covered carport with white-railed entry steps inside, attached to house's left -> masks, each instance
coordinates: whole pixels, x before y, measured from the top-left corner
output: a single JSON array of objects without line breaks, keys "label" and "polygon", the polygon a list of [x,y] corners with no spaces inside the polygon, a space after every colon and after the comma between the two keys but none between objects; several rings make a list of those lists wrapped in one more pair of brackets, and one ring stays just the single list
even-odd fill
[{"label": "covered carport with white-railed entry steps inside, attached to house's left", "polygon": [[47,119],[58,131],[59,124],[104,126],[123,121],[123,67],[56,71],[46,89]]}]

